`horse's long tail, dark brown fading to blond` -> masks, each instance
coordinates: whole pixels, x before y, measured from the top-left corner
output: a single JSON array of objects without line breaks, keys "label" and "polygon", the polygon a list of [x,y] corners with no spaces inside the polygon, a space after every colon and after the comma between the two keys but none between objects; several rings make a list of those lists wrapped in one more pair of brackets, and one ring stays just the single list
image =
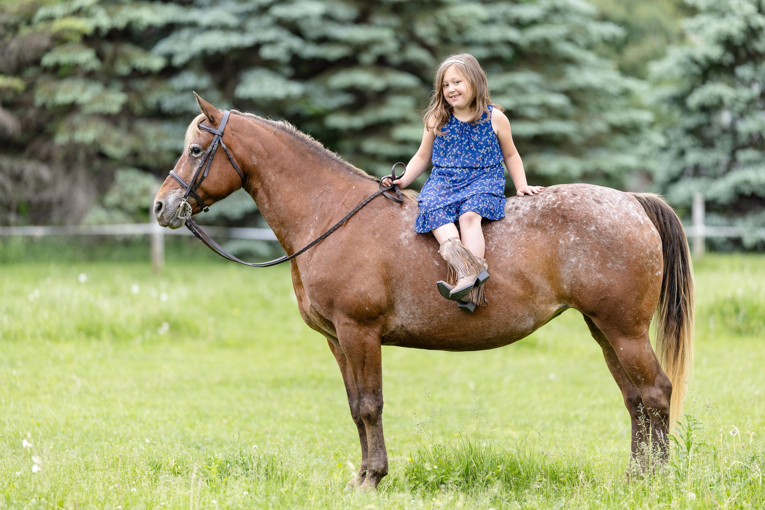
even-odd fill
[{"label": "horse's long tail, dark brown fading to blond", "polygon": [[693,365],[693,266],[680,219],[655,193],[633,193],[662,238],[664,275],[656,307],[656,351],[672,382],[669,430],[682,413]]}]

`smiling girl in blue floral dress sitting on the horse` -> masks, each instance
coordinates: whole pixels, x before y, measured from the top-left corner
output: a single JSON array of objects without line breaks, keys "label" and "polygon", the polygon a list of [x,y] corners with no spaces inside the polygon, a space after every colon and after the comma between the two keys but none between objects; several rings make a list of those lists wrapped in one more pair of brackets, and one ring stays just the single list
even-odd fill
[{"label": "smiling girl in blue floral dress sitting on the horse", "polygon": [[[526,184],[510,123],[489,96],[486,74],[470,54],[447,57],[435,76],[435,91],[425,112],[425,133],[417,154],[396,184],[407,187],[433,163],[418,197],[415,232],[433,232],[448,265],[438,291],[461,310],[485,306],[489,278],[481,219],[505,217],[505,162],[519,197],[539,193]],[[438,92],[439,87],[441,93]],[[390,184],[390,177],[383,185]],[[459,219],[460,230],[454,223]]]}]

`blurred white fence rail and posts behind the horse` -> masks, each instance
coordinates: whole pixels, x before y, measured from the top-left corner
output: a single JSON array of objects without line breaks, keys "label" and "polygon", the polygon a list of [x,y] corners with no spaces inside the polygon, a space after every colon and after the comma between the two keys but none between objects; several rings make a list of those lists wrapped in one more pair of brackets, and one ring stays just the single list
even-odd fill
[{"label": "blurred white fence rail and posts behind the horse", "polygon": [[[693,256],[702,257],[707,237],[759,237],[765,239],[765,228],[740,226],[708,226],[704,224],[704,197],[696,193],[691,210],[692,226],[685,227],[685,235],[691,239]],[[213,237],[227,239],[254,239],[276,241],[271,229],[243,227],[205,226],[205,232]],[[0,226],[0,236],[151,236],[151,265],[161,271],[164,265],[164,236],[192,236],[188,229],[164,229],[153,219],[150,223],[127,225],[71,225],[71,226]]]}]

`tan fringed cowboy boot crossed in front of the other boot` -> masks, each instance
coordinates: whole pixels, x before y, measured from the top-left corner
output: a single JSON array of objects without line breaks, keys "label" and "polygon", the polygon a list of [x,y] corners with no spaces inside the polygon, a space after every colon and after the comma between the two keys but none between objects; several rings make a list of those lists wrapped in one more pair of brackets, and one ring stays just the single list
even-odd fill
[{"label": "tan fringed cowboy boot crossed in front of the other boot", "polygon": [[448,265],[446,281],[437,282],[441,296],[454,301],[465,300],[474,285],[481,285],[489,279],[489,272],[459,238],[444,241],[438,253]]}]

